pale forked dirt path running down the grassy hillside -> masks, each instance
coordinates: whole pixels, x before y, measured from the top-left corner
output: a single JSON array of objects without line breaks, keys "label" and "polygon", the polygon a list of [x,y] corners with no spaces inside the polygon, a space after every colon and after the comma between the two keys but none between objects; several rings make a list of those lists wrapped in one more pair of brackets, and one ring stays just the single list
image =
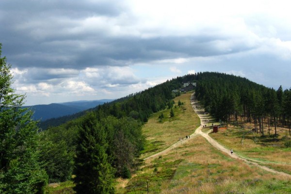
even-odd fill
[{"label": "pale forked dirt path running down the grassy hillside", "polygon": [[272,173],[275,173],[275,174],[279,174],[279,175],[282,175],[282,176],[286,176],[286,177],[288,177],[288,178],[291,178],[291,175],[290,175],[290,174],[287,174],[287,173],[284,173],[284,172],[280,172],[280,171],[276,171],[276,170],[271,169],[271,168],[269,168],[269,167],[267,167],[267,166],[263,166],[263,165],[259,164],[259,163],[264,163],[264,162],[260,162],[260,161],[256,161],[256,160],[252,160],[252,159],[246,159],[246,158],[241,157],[241,156],[239,156],[239,155],[237,155],[237,154],[235,154],[235,153],[231,154],[231,153],[230,153],[230,150],[226,149],[224,146],[220,145],[218,142],[216,142],[214,139],[212,139],[212,138],[208,135],[208,133],[204,133],[204,132],[202,132],[203,124],[204,124],[203,121],[205,122],[205,121],[207,121],[207,120],[210,119],[210,118],[209,118],[208,114],[205,114],[204,109],[201,109],[201,108],[200,108],[200,105],[199,105],[198,101],[195,99],[194,94],[191,95],[191,99],[190,99],[190,100],[191,100],[191,105],[192,105],[192,107],[193,107],[195,113],[197,113],[197,115],[198,115],[199,118],[200,118],[200,123],[201,123],[200,127],[198,127],[198,128],[195,130],[195,132],[194,132],[192,135],[190,135],[190,139],[186,139],[186,140],[183,140],[183,141],[178,141],[178,142],[176,142],[175,144],[173,144],[172,146],[168,147],[167,149],[165,149],[165,150],[163,150],[163,151],[161,151],[161,152],[159,152],[159,153],[156,153],[156,154],[154,154],[154,155],[151,155],[151,156],[145,158],[144,160],[148,160],[148,159],[151,159],[151,158],[156,158],[156,157],[158,157],[158,156],[160,156],[160,155],[166,154],[166,153],[168,153],[170,150],[172,150],[172,149],[174,149],[174,148],[176,148],[176,147],[178,147],[178,146],[180,146],[180,145],[182,145],[182,144],[185,144],[185,143],[188,142],[188,141],[191,141],[191,139],[193,139],[195,136],[201,135],[201,136],[203,136],[203,137],[204,137],[204,138],[205,138],[205,139],[206,139],[206,140],[207,140],[207,141],[208,141],[212,146],[214,146],[214,147],[217,148],[218,150],[220,150],[220,151],[226,153],[227,155],[229,155],[229,157],[232,157],[232,158],[237,159],[237,160],[241,160],[241,161],[243,161],[243,162],[245,162],[245,163],[247,163],[247,164],[249,164],[249,165],[257,166],[257,167],[259,167],[259,168],[261,168],[261,169],[263,169],[263,170],[266,170],[266,171],[269,171],[269,172],[272,172]]}]

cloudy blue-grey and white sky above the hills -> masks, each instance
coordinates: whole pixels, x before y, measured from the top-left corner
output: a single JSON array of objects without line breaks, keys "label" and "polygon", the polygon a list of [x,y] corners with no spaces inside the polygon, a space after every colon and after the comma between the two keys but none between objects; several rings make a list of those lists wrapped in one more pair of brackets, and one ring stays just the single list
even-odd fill
[{"label": "cloudy blue-grey and white sky above the hills", "polygon": [[0,0],[25,105],[117,99],[197,72],[291,87],[288,0]]}]

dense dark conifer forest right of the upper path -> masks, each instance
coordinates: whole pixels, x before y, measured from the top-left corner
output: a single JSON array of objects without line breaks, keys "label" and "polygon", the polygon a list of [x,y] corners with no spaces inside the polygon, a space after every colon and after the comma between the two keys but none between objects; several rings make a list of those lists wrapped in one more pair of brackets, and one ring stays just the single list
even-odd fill
[{"label": "dense dark conifer forest right of the upper path", "polygon": [[223,73],[200,73],[195,96],[206,111],[226,125],[238,119],[253,122],[254,129],[264,135],[263,122],[276,128],[289,128],[291,135],[291,89],[267,88],[245,78]]}]

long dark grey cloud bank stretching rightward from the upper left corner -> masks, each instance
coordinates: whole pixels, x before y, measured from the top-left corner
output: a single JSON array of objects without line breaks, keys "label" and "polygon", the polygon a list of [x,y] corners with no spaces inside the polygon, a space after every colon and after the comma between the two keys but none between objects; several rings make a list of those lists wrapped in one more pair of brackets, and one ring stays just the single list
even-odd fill
[{"label": "long dark grey cloud bank stretching rightward from the upper left corner", "polygon": [[82,31],[81,21],[88,17],[104,16],[106,19],[124,13],[127,8],[118,2],[1,1],[3,53],[11,64],[21,68],[61,66],[82,69],[250,49],[243,44],[226,50],[217,48],[216,41],[227,40],[215,34],[141,38],[138,35],[111,35],[103,26]]}]

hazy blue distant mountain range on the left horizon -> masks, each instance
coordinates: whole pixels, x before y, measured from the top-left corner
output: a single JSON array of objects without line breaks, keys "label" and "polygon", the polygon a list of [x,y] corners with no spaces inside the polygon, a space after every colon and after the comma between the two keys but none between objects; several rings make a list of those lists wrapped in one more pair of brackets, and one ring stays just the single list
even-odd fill
[{"label": "hazy blue distant mountain range on the left horizon", "polygon": [[73,102],[63,102],[63,103],[52,103],[46,105],[34,105],[26,106],[24,108],[29,108],[34,112],[33,119],[45,121],[50,118],[57,118],[61,116],[66,116],[74,113],[78,113],[87,109],[95,108],[100,104],[106,102],[111,102],[112,99],[101,99],[101,100],[81,100]]}]

